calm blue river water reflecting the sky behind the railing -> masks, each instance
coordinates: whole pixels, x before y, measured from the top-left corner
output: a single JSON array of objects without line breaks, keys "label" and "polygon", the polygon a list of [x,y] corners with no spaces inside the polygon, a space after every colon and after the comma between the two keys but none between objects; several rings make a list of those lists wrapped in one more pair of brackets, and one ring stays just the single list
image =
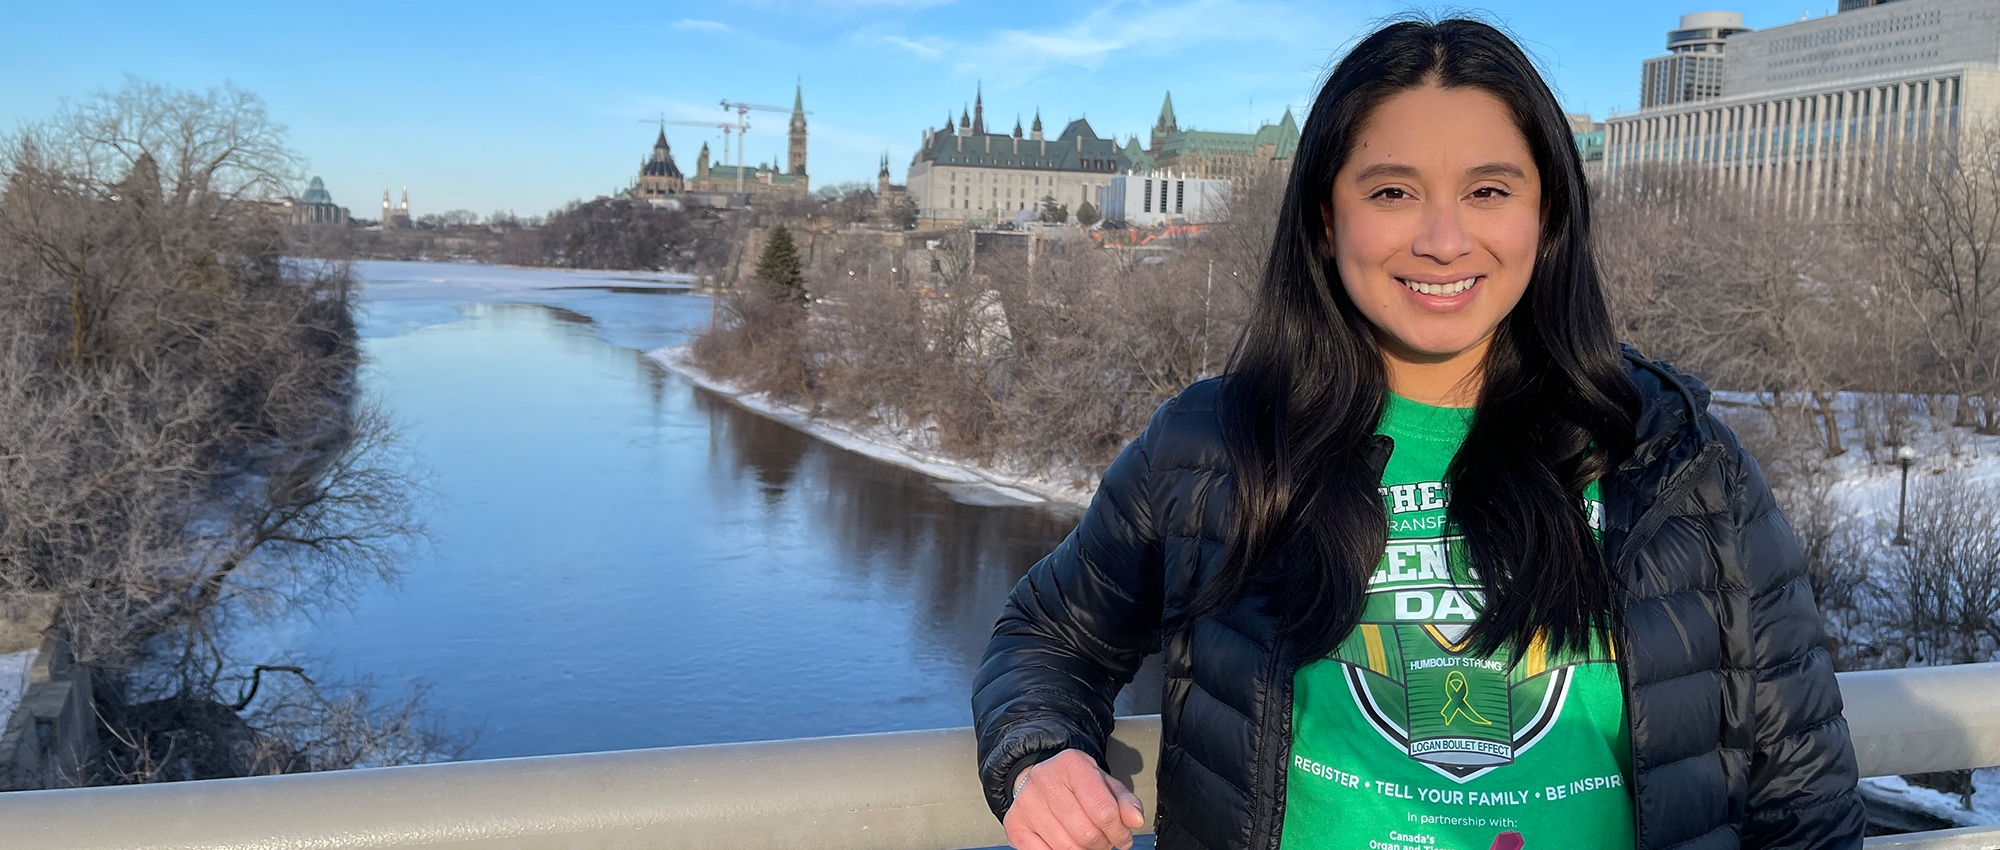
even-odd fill
[{"label": "calm blue river water reflecting the sky behind the railing", "polygon": [[[362,382],[436,492],[432,540],[294,624],[314,670],[426,682],[468,758],[970,724],[1006,592],[1074,510],[954,500],[648,360],[706,326],[704,296],[358,274]],[[1122,712],[1158,710],[1146,680]]]}]

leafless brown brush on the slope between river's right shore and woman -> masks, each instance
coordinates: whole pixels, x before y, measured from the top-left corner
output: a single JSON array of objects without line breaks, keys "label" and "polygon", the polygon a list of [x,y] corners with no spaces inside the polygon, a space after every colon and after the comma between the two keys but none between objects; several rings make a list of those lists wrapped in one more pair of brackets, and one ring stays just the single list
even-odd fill
[{"label": "leafless brown brush on the slope between river's right shore and woman", "polygon": [[1282,190],[1278,170],[1244,178],[1230,222],[1144,248],[1068,228],[952,230],[904,248],[932,268],[886,278],[856,260],[878,248],[832,236],[808,264],[804,318],[746,286],[694,358],[924,448],[1084,482],[1160,400],[1222,372]]}]

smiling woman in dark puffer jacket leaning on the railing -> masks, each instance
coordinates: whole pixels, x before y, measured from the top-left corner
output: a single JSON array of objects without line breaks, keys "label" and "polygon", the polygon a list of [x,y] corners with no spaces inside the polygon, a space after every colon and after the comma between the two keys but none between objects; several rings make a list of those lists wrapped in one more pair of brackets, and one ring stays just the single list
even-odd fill
[{"label": "smiling woman in dark puffer jacket leaning on the railing", "polygon": [[1708,392],[1620,352],[1582,166],[1498,30],[1400,22],[1306,120],[1228,374],[1014,588],[972,696],[1020,850],[1848,848],[1800,552]]}]

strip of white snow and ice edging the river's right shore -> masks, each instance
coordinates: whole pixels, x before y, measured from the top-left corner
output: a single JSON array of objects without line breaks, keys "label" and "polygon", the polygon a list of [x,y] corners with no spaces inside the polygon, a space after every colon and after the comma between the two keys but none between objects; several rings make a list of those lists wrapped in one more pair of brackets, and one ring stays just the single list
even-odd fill
[{"label": "strip of white snow and ice edging the river's right shore", "polygon": [[922,472],[938,480],[938,486],[954,502],[1004,506],[1038,504],[1058,510],[1080,510],[1096,494],[1096,476],[1078,474],[1074,480],[1058,480],[1050,474],[1030,474],[1022,470],[996,470],[970,460],[950,458],[926,450],[910,430],[886,426],[854,428],[842,422],[812,416],[812,410],[772,400],[768,394],[750,392],[728,380],[702,372],[688,360],[688,346],[666,346],[646,352],[648,358],[668,370],[688,378],[696,386],[710,390],[732,404],[760,416],[784,422],[818,440],[846,448],[854,454]]}]

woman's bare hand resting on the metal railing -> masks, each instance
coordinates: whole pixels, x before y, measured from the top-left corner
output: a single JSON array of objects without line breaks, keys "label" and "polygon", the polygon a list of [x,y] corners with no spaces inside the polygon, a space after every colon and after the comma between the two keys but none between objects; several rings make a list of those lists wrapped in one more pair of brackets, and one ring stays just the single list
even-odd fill
[{"label": "woman's bare hand resting on the metal railing", "polygon": [[1016,850],[1130,848],[1132,830],[1146,826],[1138,796],[1084,750],[1062,750],[1014,782],[1002,826]]}]

